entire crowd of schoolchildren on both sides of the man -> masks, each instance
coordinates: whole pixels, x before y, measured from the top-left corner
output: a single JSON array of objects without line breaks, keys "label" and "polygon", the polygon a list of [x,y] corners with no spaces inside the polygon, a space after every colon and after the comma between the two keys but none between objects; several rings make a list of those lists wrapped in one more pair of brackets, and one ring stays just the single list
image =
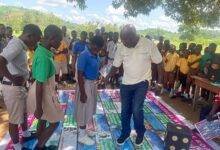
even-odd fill
[{"label": "entire crowd of schoolchildren on both sides of the man", "polygon": [[[43,149],[47,139],[56,128],[57,122],[63,120],[63,114],[57,108],[55,93],[53,92],[53,90],[55,91],[54,79],[59,84],[67,81],[77,81],[76,118],[80,128],[79,142],[91,145],[94,141],[87,136],[85,129],[95,113],[96,81],[98,79],[102,81],[109,71],[106,68],[111,68],[113,64],[119,43],[119,33],[105,32],[105,28],[102,27],[100,30],[95,30],[94,33],[90,32],[88,34],[86,31],[82,31],[80,39],[77,39],[77,32],[73,30],[71,39],[67,35],[65,26],[60,29],[55,25],[49,25],[45,29],[44,35],[41,36],[42,33],[39,27],[31,24],[24,28],[23,34],[19,38],[13,38],[12,28],[5,28],[4,25],[0,24],[0,61],[2,67],[0,75],[7,77],[2,84],[5,87],[4,97],[6,97],[5,103],[10,118],[9,130],[15,149],[19,147],[18,124],[23,123],[26,125],[24,117],[25,104],[24,101],[19,104],[17,101],[18,107],[14,109],[7,98],[16,99],[17,96],[8,94],[9,86],[13,87],[17,84],[22,87],[25,86],[23,81],[28,76],[28,68],[23,66],[26,63],[29,64],[29,72],[32,74],[29,81],[32,82],[32,78],[35,80],[29,90],[28,101],[30,105],[28,108],[40,119],[37,135],[39,149]],[[149,37],[147,36],[147,38]],[[9,44],[7,45],[7,43]],[[20,49],[14,47],[16,44],[20,46]],[[180,96],[183,100],[189,100],[193,97],[195,90],[192,78],[195,75],[208,78],[219,84],[220,55],[215,53],[217,49],[215,43],[211,43],[205,48],[204,55],[202,55],[203,47],[201,44],[190,43],[187,47],[187,43],[180,43],[179,50],[177,50],[176,46],[170,44],[169,40],[164,41],[163,37],[159,37],[157,47],[163,56],[164,66],[161,93],[169,92],[171,98]],[[23,55],[26,53],[26,48],[29,49],[28,57]],[[13,53],[13,51],[17,51],[17,53]],[[19,62],[19,64],[16,62]],[[11,67],[7,66],[7,63]],[[159,80],[157,67],[157,64],[152,64],[152,86],[155,86],[154,83]],[[109,79],[112,88],[119,87],[121,76],[123,76],[122,66],[116,75]],[[105,83],[100,82],[101,88],[105,88]],[[180,88],[181,90],[179,90]],[[17,94],[22,94],[21,91],[25,92],[22,88],[22,90],[19,89],[20,93]],[[206,97],[208,92],[202,90],[201,93],[201,96]],[[17,114],[15,115],[15,113]],[[13,118],[13,115],[19,115],[19,120]],[[46,121],[50,123],[49,128],[46,128]],[[26,128],[23,131],[24,137],[30,136]]]}]

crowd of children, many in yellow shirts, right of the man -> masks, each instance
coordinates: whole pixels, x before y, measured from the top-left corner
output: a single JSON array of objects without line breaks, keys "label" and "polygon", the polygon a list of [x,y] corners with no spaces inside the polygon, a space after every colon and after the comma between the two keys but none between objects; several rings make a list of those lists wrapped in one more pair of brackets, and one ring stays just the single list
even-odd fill
[{"label": "crowd of children, many in yellow shirts, right of the man", "polygon": [[[202,55],[202,45],[180,43],[179,50],[168,40],[160,37],[158,49],[163,55],[164,75],[161,93],[169,92],[170,98],[180,96],[183,101],[193,98],[195,85],[193,76],[201,76],[219,83],[220,55],[216,54],[217,45],[209,44]],[[153,75],[155,70],[152,70]],[[179,88],[181,87],[181,90]]]}]

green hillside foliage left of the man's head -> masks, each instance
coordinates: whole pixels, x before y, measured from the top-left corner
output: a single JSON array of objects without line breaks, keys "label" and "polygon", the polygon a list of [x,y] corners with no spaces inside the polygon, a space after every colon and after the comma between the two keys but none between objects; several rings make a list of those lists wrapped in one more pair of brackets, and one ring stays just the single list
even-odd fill
[{"label": "green hillside foliage left of the man's head", "polygon": [[[81,25],[73,24],[60,19],[52,13],[42,13],[36,10],[12,6],[0,6],[0,23],[11,26],[16,35],[19,35],[23,27],[29,23],[39,25],[42,30],[49,24],[55,24],[59,27],[65,25],[69,33],[72,30],[76,30],[78,33],[81,31],[94,32],[101,25],[99,22],[89,22]],[[119,30],[115,24],[106,24],[104,26],[107,32]]]}]

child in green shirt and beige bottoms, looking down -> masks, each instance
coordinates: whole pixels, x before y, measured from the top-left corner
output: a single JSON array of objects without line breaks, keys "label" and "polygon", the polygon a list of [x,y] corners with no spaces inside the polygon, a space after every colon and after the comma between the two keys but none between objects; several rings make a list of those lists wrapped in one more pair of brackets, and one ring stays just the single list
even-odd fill
[{"label": "child in green shirt and beige bottoms, looking down", "polygon": [[[37,149],[44,149],[44,145],[50,138],[59,121],[64,119],[64,114],[59,108],[55,91],[55,66],[53,53],[50,50],[58,48],[62,40],[61,29],[55,25],[49,25],[44,30],[44,38],[34,53],[33,78],[35,79],[28,95],[29,113],[34,113],[39,119],[37,129]],[[46,127],[46,123],[49,126]]]}]

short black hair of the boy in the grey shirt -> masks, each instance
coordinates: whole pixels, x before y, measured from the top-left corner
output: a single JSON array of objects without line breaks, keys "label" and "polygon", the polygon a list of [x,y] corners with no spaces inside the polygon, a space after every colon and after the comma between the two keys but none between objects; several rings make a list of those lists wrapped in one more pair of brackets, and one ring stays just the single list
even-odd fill
[{"label": "short black hair of the boy in the grey shirt", "polygon": [[39,36],[39,37],[42,36],[42,32],[40,28],[35,24],[25,25],[22,34],[30,34],[30,35]]}]

